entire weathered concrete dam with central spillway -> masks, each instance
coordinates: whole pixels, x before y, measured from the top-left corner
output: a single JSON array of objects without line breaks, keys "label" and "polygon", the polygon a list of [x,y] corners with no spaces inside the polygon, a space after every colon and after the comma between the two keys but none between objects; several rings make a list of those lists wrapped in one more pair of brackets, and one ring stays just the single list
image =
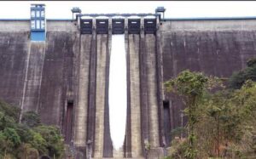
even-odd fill
[{"label": "entire weathered concrete dam with central spillway", "polygon": [[[80,14],[76,20],[45,20],[43,41],[32,39],[38,32],[32,31],[31,20],[0,20],[0,99],[22,113],[38,112],[42,122],[61,129],[67,144],[93,158],[163,156],[171,131],[185,125],[183,105],[166,94],[163,82],[185,69],[230,77],[244,68],[256,57],[256,18],[150,15],[154,18],[123,14],[118,19],[83,19]],[[121,150],[113,149],[109,123],[115,34],[125,38],[127,104]]]}]

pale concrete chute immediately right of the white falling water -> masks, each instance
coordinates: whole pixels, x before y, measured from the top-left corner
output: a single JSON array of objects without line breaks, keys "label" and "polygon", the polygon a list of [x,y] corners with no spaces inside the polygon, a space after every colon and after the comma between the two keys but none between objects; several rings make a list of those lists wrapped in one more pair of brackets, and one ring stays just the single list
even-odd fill
[{"label": "pale concrete chute immediately right of the white falling water", "polygon": [[[131,107],[131,156],[143,155],[141,142],[141,108],[140,108],[140,71],[139,71],[139,35],[128,36],[130,107]],[[128,144],[128,143],[127,143]]]}]

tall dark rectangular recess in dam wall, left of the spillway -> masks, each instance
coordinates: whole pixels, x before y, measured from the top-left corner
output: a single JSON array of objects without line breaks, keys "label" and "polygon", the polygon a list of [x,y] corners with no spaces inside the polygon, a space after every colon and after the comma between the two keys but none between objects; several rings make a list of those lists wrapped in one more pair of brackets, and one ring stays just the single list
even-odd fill
[{"label": "tall dark rectangular recess in dam wall, left of the spillway", "polygon": [[73,126],[73,100],[67,101],[67,111],[65,120],[65,142],[70,143],[72,139]]}]

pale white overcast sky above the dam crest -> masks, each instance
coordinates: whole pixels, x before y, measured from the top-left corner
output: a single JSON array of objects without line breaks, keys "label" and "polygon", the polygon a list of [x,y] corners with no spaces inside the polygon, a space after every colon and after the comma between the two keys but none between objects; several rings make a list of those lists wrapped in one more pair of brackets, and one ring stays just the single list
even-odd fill
[{"label": "pale white overcast sky above the dam crest", "polygon": [[30,18],[30,3],[45,3],[49,19],[71,19],[73,7],[84,14],[154,13],[156,7],[163,6],[166,18],[256,16],[253,1],[1,1],[0,19]]}]

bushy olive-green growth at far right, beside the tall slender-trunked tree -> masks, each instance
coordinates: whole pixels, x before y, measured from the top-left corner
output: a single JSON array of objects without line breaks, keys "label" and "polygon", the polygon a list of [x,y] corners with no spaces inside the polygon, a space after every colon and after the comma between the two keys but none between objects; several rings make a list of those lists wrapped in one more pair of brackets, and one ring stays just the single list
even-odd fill
[{"label": "bushy olive-green growth at far right, beside the tall slender-trunked tree", "polygon": [[198,140],[201,154],[230,157],[229,153],[234,151],[240,155],[252,153],[255,107],[256,84],[252,81],[245,82],[240,89],[224,89],[205,99],[199,110],[201,120],[195,128],[196,135],[201,136]]}]

